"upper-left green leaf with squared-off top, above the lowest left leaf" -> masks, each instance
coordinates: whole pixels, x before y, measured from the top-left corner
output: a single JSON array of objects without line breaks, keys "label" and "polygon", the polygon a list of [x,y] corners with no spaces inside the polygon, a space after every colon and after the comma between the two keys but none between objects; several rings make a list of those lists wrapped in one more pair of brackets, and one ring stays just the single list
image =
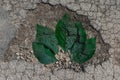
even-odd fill
[{"label": "upper-left green leaf with squared-off top, above the lowest left leaf", "polygon": [[41,25],[37,24],[37,34],[36,34],[36,41],[44,44],[45,46],[49,47],[55,54],[58,53],[58,43],[55,37],[54,32]]}]

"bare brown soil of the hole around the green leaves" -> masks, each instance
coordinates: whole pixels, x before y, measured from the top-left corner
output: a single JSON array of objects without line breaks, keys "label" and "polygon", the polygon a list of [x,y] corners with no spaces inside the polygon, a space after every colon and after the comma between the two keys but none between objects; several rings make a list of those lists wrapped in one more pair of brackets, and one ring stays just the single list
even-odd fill
[{"label": "bare brown soil of the hole around the green leaves", "polygon": [[[77,15],[75,12],[62,7],[61,5],[51,6],[43,3],[38,4],[37,9],[27,11],[27,18],[21,23],[21,27],[18,29],[16,37],[10,43],[10,47],[5,54],[5,60],[10,61],[17,59],[28,62],[36,62],[37,60],[33,55],[31,46],[35,39],[35,25],[42,24],[54,30],[57,21],[63,16],[64,13],[69,13],[73,21],[81,21],[89,37],[96,36],[97,38],[95,55],[86,64],[98,65],[108,60],[110,57],[108,53],[110,46],[104,42],[99,31],[97,31],[92,24],[90,24],[90,20],[87,16]],[[53,64],[52,67],[56,67],[56,65],[57,64]],[[69,69],[73,66],[72,69],[80,70],[80,68],[78,68],[80,66],[79,64],[72,63],[70,65],[69,67],[60,65],[59,68]]]}]

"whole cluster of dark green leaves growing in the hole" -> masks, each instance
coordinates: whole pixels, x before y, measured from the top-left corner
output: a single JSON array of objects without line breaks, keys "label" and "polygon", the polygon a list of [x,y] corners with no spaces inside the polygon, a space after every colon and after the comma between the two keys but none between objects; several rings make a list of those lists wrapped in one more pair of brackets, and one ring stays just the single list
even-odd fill
[{"label": "whole cluster of dark green leaves growing in the hole", "polygon": [[55,55],[58,53],[58,45],[65,52],[70,50],[71,61],[77,63],[85,63],[95,53],[96,38],[87,39],[82,23],[72,22],[68,14],[58,21],[55,32],[38,24],[36,31],[32,47],[34,55],[43,64],[57,61]]}]

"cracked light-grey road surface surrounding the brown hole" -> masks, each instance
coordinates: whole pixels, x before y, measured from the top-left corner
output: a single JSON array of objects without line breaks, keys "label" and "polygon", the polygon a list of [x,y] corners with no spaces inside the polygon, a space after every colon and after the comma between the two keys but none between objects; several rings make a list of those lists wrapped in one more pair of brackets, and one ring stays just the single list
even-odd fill
[{"label": "cracked light-grey road surface surrounding the brown hole", "polygon": [[[0,0],[0,5],[3,8],[2,12],[9,11],[11,24],[19,28],[20,22],[27,16],[26,11],[35,9],[37,3],[40,2],[40,0]],[[42,0],[42,2],[51,5],[61,4],[78,14],[88,16],[104,41],[111,45],[109,60],[98,66],[86,67],[86,73],[75,73],[63,69],[53,74],[39,63],[1,61],[0,80],[120,80],[120,0]],[[6,21],[6,18],[3,21]],[[1,17],[0,23],[3,23]],[[0,25],[0,41],[8,35],[2,35],[1,31],[8,28],[4,29],[3,26],[5,27],[6,24]],[[14,30],[12,27],[10,29]],[[0,42],[0,50],[6,40],[8,39],[5,38],[3,42]]]}]

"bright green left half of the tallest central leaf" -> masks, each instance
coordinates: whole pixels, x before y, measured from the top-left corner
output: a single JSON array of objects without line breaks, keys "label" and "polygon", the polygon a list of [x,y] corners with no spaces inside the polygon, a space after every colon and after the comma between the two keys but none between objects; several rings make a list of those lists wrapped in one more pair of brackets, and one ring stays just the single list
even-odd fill
[{"label": "bright green left half of the tallest central leaf", "polygon": [[56,25],[56,38],[58,40],[58,44],[63,48],[64,51],[67,51],[66,43],[67,43],[67,35],[69,33],[68,27],[70,25],[70,16],[65,14],[62,19],[60,19]]}]

